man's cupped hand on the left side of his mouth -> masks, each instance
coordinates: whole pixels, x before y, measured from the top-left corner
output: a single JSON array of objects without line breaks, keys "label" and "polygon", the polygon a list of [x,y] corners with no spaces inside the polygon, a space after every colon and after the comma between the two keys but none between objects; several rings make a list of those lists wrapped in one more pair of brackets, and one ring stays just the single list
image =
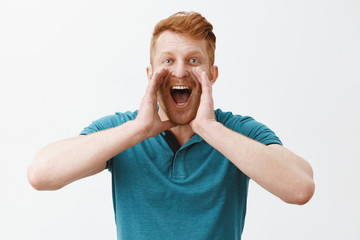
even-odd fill
[{"label": "man's cupped hand on the left side of his mouth", "polygon": [[169,71],[165,68],[155,72],[141,101],[135,122],[144,130],[146,138],[157,136],[175,126],[170,120],[162,121],[157,110],[157,92],[168,75]]}]

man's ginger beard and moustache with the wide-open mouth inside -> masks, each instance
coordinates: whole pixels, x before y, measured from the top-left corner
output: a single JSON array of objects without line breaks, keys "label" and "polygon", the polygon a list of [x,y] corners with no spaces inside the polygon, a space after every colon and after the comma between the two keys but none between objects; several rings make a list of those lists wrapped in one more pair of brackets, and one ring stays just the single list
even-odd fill
[{"label": "man's ginger beard and moustache with the wide-open mouth inside", "polygon": [[[186,86],[186,89],[174,90],[174,86]],[[192,77],[165,81],[158,91],[161,109],[176,125],[187,125],[195,119],[200,105],[200,97],[201,86]]]}]

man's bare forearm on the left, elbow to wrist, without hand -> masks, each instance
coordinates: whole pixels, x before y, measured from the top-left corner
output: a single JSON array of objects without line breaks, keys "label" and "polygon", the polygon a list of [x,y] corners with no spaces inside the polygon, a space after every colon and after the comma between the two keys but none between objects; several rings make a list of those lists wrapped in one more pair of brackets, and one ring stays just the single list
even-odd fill
[{"label": "man's bare forearm on the left, elbow to wrist, without hand", "polygon": [[50,144],[29,166],[29,182],[39,190],[55,190],[100,172],[107,160],[146,138],[142,129],[135,121],[129,121],[115,128]]}]

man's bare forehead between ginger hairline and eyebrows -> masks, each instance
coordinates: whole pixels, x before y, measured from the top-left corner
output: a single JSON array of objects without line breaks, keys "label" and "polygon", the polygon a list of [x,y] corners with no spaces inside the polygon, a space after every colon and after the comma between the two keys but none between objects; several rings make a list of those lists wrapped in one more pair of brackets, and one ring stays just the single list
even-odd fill
[{"label": "man's bare forehead between ginger hairline and eyebrows", "polygon": [[155,43],[155,57],[163,53],[186,54],[199,52],[207,57],[207,42],[205,39],[193,39],[172,31],[165,31],[160,34]]}]

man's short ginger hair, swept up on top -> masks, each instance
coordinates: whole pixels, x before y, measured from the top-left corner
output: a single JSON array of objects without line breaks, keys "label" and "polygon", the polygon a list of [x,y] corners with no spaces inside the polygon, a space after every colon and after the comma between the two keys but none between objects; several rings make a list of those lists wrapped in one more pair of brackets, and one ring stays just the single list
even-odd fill
[{"label": "man's short ginger hair, swept up on top", "polygon": [[215,43],[216,36],[213,33],[213,26],[200,13],[197,12],[178,12],[170,17],[161,20],[156,24],[151,38],[150,63],[153,61],[154,48],[157,38],[164,31],[173,31],[187,37],[207,42],[207,53],[210,65],[215,62]]}]

